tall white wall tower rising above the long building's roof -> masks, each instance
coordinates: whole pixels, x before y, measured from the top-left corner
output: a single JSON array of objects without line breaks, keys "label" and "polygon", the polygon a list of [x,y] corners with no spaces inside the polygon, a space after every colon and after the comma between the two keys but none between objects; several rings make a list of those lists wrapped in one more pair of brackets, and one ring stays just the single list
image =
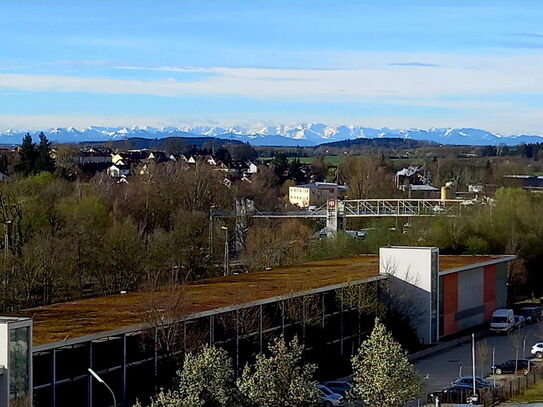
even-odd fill
[{"label": "tall white wall tower rising above the long building's roof", "polygon": [[409,313],[421,343],[439,338],[438,263],[439,250],[435,247],[379,250],[379,273],[390,276],[389,296]]}]

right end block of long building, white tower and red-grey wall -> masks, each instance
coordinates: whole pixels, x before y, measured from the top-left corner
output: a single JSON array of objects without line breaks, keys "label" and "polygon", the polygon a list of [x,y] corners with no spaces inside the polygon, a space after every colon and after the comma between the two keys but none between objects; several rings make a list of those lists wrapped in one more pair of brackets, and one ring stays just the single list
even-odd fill
[{"label": "right end block of long building, white tower and red-grey wall", "polygon": [[507,306],[509,263],[515,256],[439,256],[436,247],[384,247],[380,274],[398,301],[418,315],[421,343],[490,321]]}]

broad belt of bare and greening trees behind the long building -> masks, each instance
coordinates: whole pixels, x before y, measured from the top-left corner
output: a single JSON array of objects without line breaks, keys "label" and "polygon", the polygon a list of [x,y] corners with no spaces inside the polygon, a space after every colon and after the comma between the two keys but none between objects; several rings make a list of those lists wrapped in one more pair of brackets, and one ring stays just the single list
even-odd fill
[{"label": "broad belt of bare and greening trees behind the long building", "polygon": [[[21,172],[0,184],[3,310],[155,289],[174,277],[183,282],[220,275],[225,239],[220,227],[235,228],[232,220],[210,222],[211,207],[232,211],[236,197],[250,196],[259,209],[292,210],[288,186],[300,168],[299,161],[277,156],[260,165],[250,182],[227,186],[222,172],[205,163],[169,162],[120,184],[105,174],[85,182],[66,179],[64,164],[54,156],[45,136],[37,144],[25,137],[14,163]],[[425,165],[436,182],[454,179],[459,185],[481,179],[497,183],[502,174],[526,168],[453,157]],[[394,182],[397,166],[382,155],[349,156],[334,175],[349,186],[349,198],[400,197]],[[308,167],[314,179],[330,171],[322,157]],[[537,295],[543,281],[537,270],[543,259],[537,243],[543,237],[542,205],[540,195],[504,189],[488,205],[468,208],[460,218],[413,220],[408,228],[390,220],[349,221],[350,228],[369,229],[362,241],[342,233],[316,240],[322,226],[314,222],[254,219],[240,256],[249,269],[261,270],[375,253],[386,244],[439,246],[443,253],[516,254],[520,260],[513,286],[520,292],[532,287]],[[230,238],[236,238],[234,233]]]}]

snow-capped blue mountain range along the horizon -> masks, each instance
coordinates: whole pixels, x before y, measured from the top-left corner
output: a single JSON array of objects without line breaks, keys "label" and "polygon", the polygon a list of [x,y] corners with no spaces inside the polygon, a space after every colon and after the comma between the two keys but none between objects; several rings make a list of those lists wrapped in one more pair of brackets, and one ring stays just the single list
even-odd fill
[{"label": "snow-capped blue mountain range along the horizon", "polygon": [[[0,144],[19,144],[26,131],[7,130],[0,132]],[[83,141],[108,141],[131,137],[217,137],[249,142],[263,146],[315,146],[356,138],[399,137],[411,140],[427,140],[439,144],[461,145],[515,145],[520,143],[543,142],[539,135],[502,136],[486,130],[472,128],[431,128],[431,129],[374,129],[370,127],[322,123],[300,123],[296,125],[250,125],[250,126],[190,126],[179,127],[97,127],[84,129],[53,128],[44,130],[53,142],[73,143]],[[38,134],[38,132],[31,132]]]}]

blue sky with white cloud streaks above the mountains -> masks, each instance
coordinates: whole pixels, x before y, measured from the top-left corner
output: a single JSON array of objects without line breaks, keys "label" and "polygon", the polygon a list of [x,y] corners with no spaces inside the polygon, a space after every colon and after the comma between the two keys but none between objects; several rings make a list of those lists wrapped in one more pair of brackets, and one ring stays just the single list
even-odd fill
[{"label": "blue sky with white cloud streaks above the mountains", "polygon": [[540,0],[0,0],[0,130],[543,135]]}]

